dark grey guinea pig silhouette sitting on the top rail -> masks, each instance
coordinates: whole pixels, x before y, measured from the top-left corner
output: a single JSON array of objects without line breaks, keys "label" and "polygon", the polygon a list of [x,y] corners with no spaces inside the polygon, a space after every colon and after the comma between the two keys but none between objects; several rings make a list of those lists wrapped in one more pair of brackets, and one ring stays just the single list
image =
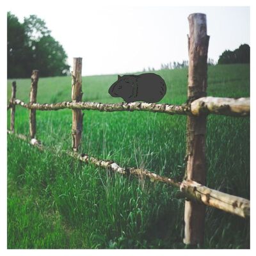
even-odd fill
[{"label": "dark grey guinea pig silhouette sitting on the top rail", "polygon": [[145,101],[158,102],[166,93],[164,79],[154,73],[118,76],[108,93],[113,97],[121,97],[126,102]]}]

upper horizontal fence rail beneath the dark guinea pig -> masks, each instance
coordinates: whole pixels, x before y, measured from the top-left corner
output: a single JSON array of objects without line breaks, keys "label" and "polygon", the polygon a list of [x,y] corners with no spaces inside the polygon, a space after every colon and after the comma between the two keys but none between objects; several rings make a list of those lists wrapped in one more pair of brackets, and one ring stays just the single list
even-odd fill
[{"label": "upper horizontal fence rail beneath the dark guinea pig", "polygon": [[227,116],[249,116],[250,98],[220,98],[220,97],[202,97],[194,100],[191,104],[170,105],[156,104],[146,102],[131,103],[99,103],[99,102],[58,102],[58,103],[25,103],[19,99],[13,99],[7,109],[12,105],[19,105],[23,108],[36,110],[59,110],[59,109],[81,109],[98,111],[150,111],[155,113],[166,113],[169,115],[195,115],[215,114]]}]

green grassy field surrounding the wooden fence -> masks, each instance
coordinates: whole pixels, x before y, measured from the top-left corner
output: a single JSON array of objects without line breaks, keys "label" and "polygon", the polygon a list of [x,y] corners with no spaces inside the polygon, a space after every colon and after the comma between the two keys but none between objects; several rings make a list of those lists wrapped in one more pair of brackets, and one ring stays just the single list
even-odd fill
[{"label": "green grassy field surrounding the wooden fence", "polygon": [[[161,102],[186,102],[187,69],[156,73],[168,88]],[[209,67],[208,74],[208,95],[250,96],[249,65]],[[121,102],[108,95],[114,81],[83,77],[83,101]],[[29,88],[30,79],[17,79],[17,98],[28,102]],[[70,77],[39,80],[38,102],[70,98]],[[36,137],[56,153],[8,136],[8,248],[186,248],[177,189],[65,156],[70,109],[37,111],[36,125]],[[28,135],[28,110],[19,106],[15,129]],[[186,116],[84,111],[81,152],[91,156],[181,180],[185,148]],[[250,199],[250,118],[208,117],[207,186]],[[204,248],[250,248],[250,220],[207,207]]]}]

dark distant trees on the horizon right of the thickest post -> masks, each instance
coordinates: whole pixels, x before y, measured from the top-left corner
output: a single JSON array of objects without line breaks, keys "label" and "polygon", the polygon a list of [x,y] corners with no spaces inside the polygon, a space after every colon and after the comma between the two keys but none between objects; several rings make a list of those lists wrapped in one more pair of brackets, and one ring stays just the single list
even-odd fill
[{"label": "dark distant trees on the horizon right of the thickest post", "polygon": [[250,46],[243,44],[234,51],[224,51],[218,60],[218,64],[231,63],[250,63]]}]

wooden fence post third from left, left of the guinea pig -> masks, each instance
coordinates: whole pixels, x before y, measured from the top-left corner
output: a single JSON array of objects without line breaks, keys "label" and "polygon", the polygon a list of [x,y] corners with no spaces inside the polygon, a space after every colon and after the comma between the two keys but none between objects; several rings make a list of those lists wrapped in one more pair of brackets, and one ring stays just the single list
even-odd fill
[{"label": "wooden fence post third from left, left of the guinea pig", "polygon": [[[72,102],[82,100],[82,58],[74,58],[72,72]],[[78,151],[83,131],[83,113],[80,109],[72,109],[72,148]]]}]

